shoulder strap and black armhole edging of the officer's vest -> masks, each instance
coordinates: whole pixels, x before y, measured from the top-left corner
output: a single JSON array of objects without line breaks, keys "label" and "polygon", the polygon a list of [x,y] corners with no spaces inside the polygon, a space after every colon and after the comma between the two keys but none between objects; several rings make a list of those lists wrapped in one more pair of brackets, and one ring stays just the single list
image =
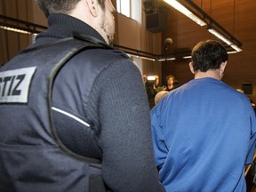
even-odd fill
[{"label": "shoulder strap and black armhole edging of the officer's vest", "polygon": [[[75,34],[74,37],[71,38],[64,38],[57,40],[51,44],[43,44],[41,46],[37,46],[32,49],[28,49],[24,52],[40,52],[44,50],[44,57],[50,57],[52,60],[48,60],[44,64],[44,73],[47,77],[47,111],[49,114],[49,127],[51,128],[51,132],[53,135],[53,140],[58,144],[59,148],[68,154],[68,156],[73,156],[78,160],[82,160],[88,164],[100,164],[99,159],[86,157],[86,156],[80,156],[76,154],[75,152],[68,149],[60,140],[58,137],[56,128],[53,123],[53,117],[52,117],[52,84],[54,81],[54,77],[57,75],[58,71],[60,71],[60,68],[62,68],[65,63],[72,57],[74,57],[78,52],[82,52],[84,50],[88,49],[112,49],[108,44],[104,44],[100,42],[99,40],[93,38],[92,36],[83,36],[79,34]],[[22,52],[21,52],[22,53]],[[42,67],[43,68],[43,67]],[[45,72],[46,71],[46,72]]]}]

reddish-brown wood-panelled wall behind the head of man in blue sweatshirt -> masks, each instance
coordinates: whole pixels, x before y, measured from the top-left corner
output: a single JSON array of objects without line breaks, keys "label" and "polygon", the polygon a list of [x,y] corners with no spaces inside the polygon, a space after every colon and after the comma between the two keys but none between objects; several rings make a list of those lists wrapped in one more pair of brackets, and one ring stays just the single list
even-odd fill
[{"label": "reddish-brown wood-panelled wall behind the head of man in blue sweatshirt", "polygon": [[[193,2],[202,7],[204,12],[207,12],[213,20],[217,21],[243,44],[243,52],[229,54],[223,81],[234,88],[241,88],[244,81],[251,81],[253,94],[248,95],[248,97],[256,101],[256,1],[193,0]],[[192,49],[194,45],[205,38],[216,39],[207,32],[206,28],[192,24],[193,21],[172,7],[170,7],[168,22],[168,31],[164,33],[163,38],[173,38],[173,49],[182,47]],[[181,84],[188,82],[188,76],[193,78],[185,67],[188,61],[164,62],[163,76],[172,74]]]}]

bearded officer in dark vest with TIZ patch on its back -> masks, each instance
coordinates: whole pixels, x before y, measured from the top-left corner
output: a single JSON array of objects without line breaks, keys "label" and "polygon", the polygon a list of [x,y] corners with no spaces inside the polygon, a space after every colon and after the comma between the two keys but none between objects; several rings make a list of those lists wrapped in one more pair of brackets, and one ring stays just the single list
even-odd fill
[{"label": "bearded officer in dark vest with TIZ patch on its back", "polygon": [[[0,69],[0,191],[164,191],[140,70],[110,46],[111,1],[36,3],[49,28]],[[82,43],[57,73],[60,51]]]}]

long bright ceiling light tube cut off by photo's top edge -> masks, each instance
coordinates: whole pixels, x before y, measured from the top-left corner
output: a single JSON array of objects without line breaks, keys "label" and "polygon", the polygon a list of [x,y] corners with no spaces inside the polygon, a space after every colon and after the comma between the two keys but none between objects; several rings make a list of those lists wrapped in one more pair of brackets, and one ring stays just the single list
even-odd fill
[{"label": "long bright ceiling light tube cut off by photo's top edge", "polygon": [[190,12],[185,6],[183,6],[176,0],[164,0],[164,2],[170,4],[174,9],[186,15],[190,20],[194,20],[201,27],[206,25],[204,20],[199,19],[193,12]]}]

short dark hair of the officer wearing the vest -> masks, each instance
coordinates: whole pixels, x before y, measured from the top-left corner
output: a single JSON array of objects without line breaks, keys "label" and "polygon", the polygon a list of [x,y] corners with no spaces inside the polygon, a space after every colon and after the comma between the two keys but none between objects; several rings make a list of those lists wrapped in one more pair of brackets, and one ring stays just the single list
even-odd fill
[{"label": "short dark hair of the officer wearing the vest", "polygon": [[[47,18],[52,13],[68,14],[80,1],[81,0],[36,0],[36,4]],[[106,0],[98,0],[103,10],[105,10],[105,1]]]}]

